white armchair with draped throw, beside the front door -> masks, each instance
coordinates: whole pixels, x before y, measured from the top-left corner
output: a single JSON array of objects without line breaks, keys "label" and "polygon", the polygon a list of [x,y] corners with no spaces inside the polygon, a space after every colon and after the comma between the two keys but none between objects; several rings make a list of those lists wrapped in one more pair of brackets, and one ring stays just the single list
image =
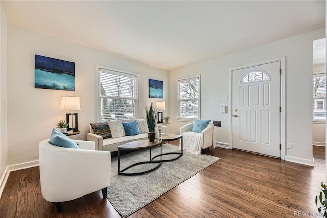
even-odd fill
[{"label": "white armchair with draped throw, beside the front door", "polygon": [[[208,126],[203,129],[201,133],[192,132],[193,125],[194,123],[188,123],[179,128],[179,134],[183,135],[184,148],[188,150],[191,147],[189,152],[197,155],[200,155],[201,151],[203,153],[205,148],[215,148],[215,129],[212,121],[209,122]],[[189,138],[189,140],[187,138]],[[181,148],[181,145],[179,147]]]}]

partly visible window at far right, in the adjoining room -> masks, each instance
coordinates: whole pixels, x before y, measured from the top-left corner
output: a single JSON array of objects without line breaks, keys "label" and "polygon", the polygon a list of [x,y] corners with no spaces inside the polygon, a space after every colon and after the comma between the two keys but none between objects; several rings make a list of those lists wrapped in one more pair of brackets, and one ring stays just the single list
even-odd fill
[{"label": "partly visible window at far right, in the adjoining room", "polygon": [[326,121],[326,74],[313,75],[313,121]]}]

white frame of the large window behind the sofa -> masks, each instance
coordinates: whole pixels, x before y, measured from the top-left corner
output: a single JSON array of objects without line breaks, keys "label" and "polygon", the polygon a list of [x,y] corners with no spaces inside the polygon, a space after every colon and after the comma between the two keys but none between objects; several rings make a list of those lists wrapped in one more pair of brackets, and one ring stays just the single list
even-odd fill
[{"label": "white frame of the large window behind the sofa", "polygon": [[[110,73],[110,74],[115,74],[115,75],[121,75],[121,76],[125,76],[125,77],[133,77],[136,78],[136,97],[133,98],[134,100],[134,116],[132,119],[136,119],[138,118],[138,105],[139,105],[139,74],[137,73],[131,73],[128,71],[123,71],[123,70],[118,70],[118,69],[113,69],[113,68],[108,68],[108,67],[104,67],[104,66],[98,66],[96,67],[96,71],[98,74],[98,85],[97,85],[97,99],[98,99],[98,108],[97,108],[97,120],[98,122],[101,122],[103,120],[101,120],[101,99],[103,97],[100,96],[100,76],[101,76],[101,72],[103,73]],[[110,97],[108,97],[110,98]],[[113,97],[116,98],[116,97]],[[121,98],[121,99],[131,99],[131,98]],[[122,120],[122,119],[121,119]]]}]

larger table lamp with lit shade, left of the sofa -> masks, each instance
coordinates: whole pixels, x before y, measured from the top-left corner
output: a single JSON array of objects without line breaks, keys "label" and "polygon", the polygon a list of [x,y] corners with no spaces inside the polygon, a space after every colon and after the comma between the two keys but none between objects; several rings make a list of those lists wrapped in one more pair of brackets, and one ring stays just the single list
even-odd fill
[{"label": "larger table lamp with lit shade, left of the sofa", "polygon": [[78,131],[77,113],[73,113],[73,111],[81,110],[80,97],[62,96],[59,110],[71,111],[71,113],[66,114],[67,123],[69,123],[67,130]]}]

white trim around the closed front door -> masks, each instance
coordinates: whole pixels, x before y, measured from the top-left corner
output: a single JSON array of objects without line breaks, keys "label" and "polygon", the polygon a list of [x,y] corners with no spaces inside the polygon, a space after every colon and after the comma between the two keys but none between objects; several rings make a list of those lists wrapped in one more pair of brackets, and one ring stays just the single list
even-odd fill
[{"label": "white trim around the closed front door", "polygon": [[239,69],[243,69],[243,68],[250,68],[250,67],[254,67],[254,66],[258,66],[258,65],[262,65],[262,64],[267,64],[267,63],[273,63],[273,62],[281,62],[281,70],[282,70],[282,74],[281,74],[281,96],[280,96],[280,104],[282,107],[282,111],[280,114],[280,118],[281,118],[281,123],[280,123],[280,130],[281,132],[279,133],[281,135],[281,159],[285,160],[285,149],[286,149],[286,143],[285,143],[285,135],[286,135],[286,128],[285,128],[285,112],[286,112],[286,108],[285,108],[285,59],[286,57],[280,57],[280,58],[275,58],[275,59],[270,59],[270,60],[265,60],[265,61],[261,61],[261,62],[256,62],[256,63],[250,63],[250,64],[245,64],[242,66],[238,66],[238,67],[232,67],[229,68],[229,148],[232,149],[233,148],[233,132],[232,132],[232,108],[231,108],[231,104],[232,104],[232,72],[234,70],[239,70]]}]

